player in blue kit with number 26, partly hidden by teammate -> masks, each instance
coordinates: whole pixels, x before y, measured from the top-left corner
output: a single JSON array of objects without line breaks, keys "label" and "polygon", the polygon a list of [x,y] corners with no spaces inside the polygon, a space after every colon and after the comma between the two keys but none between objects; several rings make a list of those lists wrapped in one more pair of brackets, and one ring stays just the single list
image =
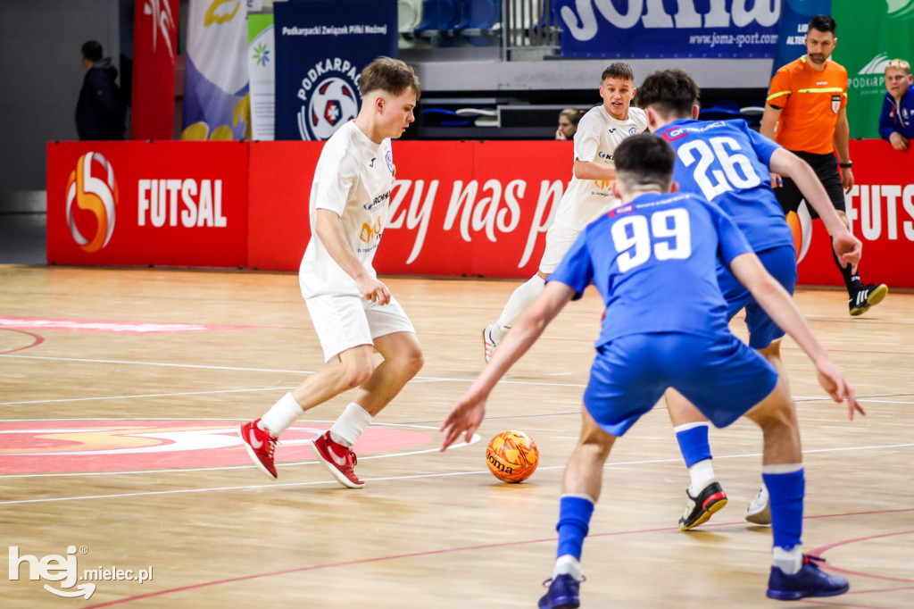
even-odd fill
[{"label": "player in blue kit with number 26, partly hidden by teammate", "polygon": [[[676,151],[673,179],[679,188],[707,198],[726,211],[765,269],[787,292],[793,294],[796,283],[796,252],[792,231],[770,187],[770,170],[791,177],[800,188],[832,236],[838,259],[845,264],[859,262],[860,241],[847,230],[815,172],[799,156],[750,130],[743,120],[697,121],[698,87],[681,69],[654,72],[638,93],[651,132],[663,137]],[[718,267],[717,281],[727,301],[728,319],[745,308],[749,347],[759,349],[783,376],[783,330],[726,268]],[[666,404],[691,477],[685,490],[685,514],[679,518],[679,528],[688,530],[727,505],[727,495],[711,466],[707,419],[675,390],[666,394]],[[755,524],[771,524],[764,486],[749,504],[746,519]]]}]

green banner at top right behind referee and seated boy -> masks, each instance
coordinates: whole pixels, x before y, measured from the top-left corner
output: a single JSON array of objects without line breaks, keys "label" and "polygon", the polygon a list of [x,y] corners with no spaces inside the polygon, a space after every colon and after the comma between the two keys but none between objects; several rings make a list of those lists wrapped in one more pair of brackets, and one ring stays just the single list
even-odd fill
[{"label": "green banner at top right behind referee and seated boy", "polygon": [[889,59],[914,63],[914,0],[833,0],[833,59],[847,69],[851,137],[879,137]]}]

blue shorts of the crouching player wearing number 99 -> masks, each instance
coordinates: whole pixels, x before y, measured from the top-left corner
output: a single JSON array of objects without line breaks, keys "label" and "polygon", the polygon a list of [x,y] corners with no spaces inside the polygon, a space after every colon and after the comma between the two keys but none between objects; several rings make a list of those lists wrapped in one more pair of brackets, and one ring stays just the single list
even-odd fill
[{"label": "blue shorts of the crouching player wearing number 99", "polygon": [[726,427],[777,382],[768,360],[730,333],[632,334],[597,349],[584,405],[604,431],[621,436],[672,387],[708,421]]}]

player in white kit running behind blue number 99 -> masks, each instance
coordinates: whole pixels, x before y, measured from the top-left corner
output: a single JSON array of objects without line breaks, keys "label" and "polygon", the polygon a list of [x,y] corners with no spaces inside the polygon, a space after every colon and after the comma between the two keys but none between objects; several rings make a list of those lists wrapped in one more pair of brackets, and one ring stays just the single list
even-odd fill
[{"label": "player in white kit running behind blue number 99", "polygon": [[483,330],[485,361],[498,343],[543,291],[549,273],[556,270],[571,244],[590,222],[619,206],[610,185],[616,178],[612,155],[622,140],[647,131],[647,116],[632,108],[634,70],[627,63],[613,63],[603,70],[600,97],[603,103],[581,117],[574,135],[574,172],[558,203],[546,233],[546,250],[539,271],[508,298],[498,321]]}]

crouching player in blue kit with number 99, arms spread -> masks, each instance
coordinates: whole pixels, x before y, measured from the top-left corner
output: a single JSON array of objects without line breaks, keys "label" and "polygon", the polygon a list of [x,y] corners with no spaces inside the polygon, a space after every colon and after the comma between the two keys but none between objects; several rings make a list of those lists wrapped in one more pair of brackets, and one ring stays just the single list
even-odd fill
[{"label": "crouching player in blue kit with number 99, arms spread", "polygon": [[541,608],[579,606],[581,547],[600,497],[603,465],[616,437],[671,387],[719,427],[744,414],[761,427],[776,548],[768,596],[794,600],[849,588],[845,578],[819,568],[821,559],[794,557],[801,547],[803,502],[796,414],[777,370],[730,333],[717,262],[728,266],[797,341],[813,360],[824,390],[834,401],[848,401],[852,418],[860,410],[854,392],[733,221],[703,198],[675,194],[674,162],[669,144],[652,134],[619,144],[612,189],[622,206],[580,234],[543,294],[441,426],[442,450],[462,433],[470,439],[498,379],[569,300],[590,283],[597,287],[606,316],[584,391],[580,439],[562,481],[558,558]]}]

